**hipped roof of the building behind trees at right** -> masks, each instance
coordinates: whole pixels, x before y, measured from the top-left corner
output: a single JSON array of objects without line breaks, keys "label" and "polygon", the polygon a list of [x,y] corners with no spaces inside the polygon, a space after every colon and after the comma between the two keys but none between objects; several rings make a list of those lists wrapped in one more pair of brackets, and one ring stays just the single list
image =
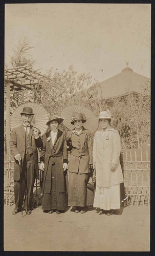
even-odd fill
[{"label": "hipped roof of the building behind trees at right", "polygon": [[100,82],[101,91],[98,92],[98,98],[111,98],[125,95],[131,91],[142,93],[142,86],[148,83],[149,78],[126,67],[121,73]]}]

